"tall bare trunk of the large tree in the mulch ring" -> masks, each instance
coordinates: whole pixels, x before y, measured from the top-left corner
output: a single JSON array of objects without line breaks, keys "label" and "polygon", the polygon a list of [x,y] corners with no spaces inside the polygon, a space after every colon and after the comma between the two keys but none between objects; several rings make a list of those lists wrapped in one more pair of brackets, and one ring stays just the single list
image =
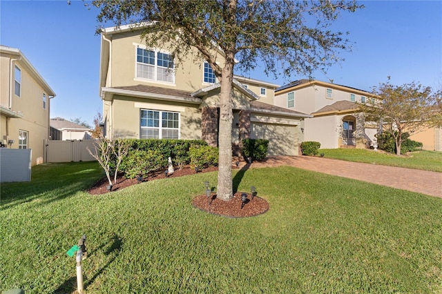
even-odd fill
[{"label": "tall bare trunk of the large tree in the mulch ring", "polygon": [[[231,62],[229,62],[229,60]],[[218,144],[220,159],[218,166],[218,189],[217,198],[229,201],[233,198],[232,183],[232,81],[233,81],[233,58],[227,57],[226,64],[222,69],[221,92],[220,92],[220,128]]]}]

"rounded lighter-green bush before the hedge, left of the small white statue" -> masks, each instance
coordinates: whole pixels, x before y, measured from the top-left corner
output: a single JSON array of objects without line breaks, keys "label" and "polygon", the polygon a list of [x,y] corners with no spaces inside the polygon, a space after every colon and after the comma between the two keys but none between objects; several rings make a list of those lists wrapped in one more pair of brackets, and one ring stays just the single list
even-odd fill
[{"label": "rounded lighter-green bush before the hedge, left of the small white statue", "polygon": [[121,170],[129,179],[146,177],[153,170],[166,166],[167,159],[158,150],[132,150],[124,157]]}]

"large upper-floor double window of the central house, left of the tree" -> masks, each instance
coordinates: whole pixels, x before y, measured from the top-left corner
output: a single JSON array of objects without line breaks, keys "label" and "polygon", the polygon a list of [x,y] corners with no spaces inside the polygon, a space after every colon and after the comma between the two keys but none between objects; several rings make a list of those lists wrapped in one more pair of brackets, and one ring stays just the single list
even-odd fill
[{"label": "large upper-floor double window of the central house, left of the tree", "polygon": [[175,83],[173,68],[171,55],[137,48],[137,77]]}]

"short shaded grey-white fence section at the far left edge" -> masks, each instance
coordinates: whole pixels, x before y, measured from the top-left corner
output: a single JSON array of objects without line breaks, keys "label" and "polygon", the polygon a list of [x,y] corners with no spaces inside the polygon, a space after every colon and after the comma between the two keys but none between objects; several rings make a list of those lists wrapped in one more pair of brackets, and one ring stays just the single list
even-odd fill
[{"label": "short shaded grey-white fence section at the far left edge", "polygon": [[0,148],[0,182],[30,182],[30,149]]}]

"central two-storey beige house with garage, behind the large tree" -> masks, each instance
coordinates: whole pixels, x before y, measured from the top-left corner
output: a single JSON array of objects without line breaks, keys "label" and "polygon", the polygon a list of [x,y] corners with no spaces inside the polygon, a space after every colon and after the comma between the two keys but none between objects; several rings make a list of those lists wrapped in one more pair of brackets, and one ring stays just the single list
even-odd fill
[{"label": "central two-storey beige house with garage, behind the large tree", "polygon": [[[215,49],[214,49],[215,50]],[[219,52],[219,63],[224,62]],[[269,155],[297,155],[302,119],[273,106],[278,85],[234,77],[233,150],[245,138],[269,139]],[[104,135],[109,139],[204,139],[218,145],[220,84],[204,61],[189,55],[180,66],[162,48],[146,48],[140,31],[102,32],[100,88]]]}]

